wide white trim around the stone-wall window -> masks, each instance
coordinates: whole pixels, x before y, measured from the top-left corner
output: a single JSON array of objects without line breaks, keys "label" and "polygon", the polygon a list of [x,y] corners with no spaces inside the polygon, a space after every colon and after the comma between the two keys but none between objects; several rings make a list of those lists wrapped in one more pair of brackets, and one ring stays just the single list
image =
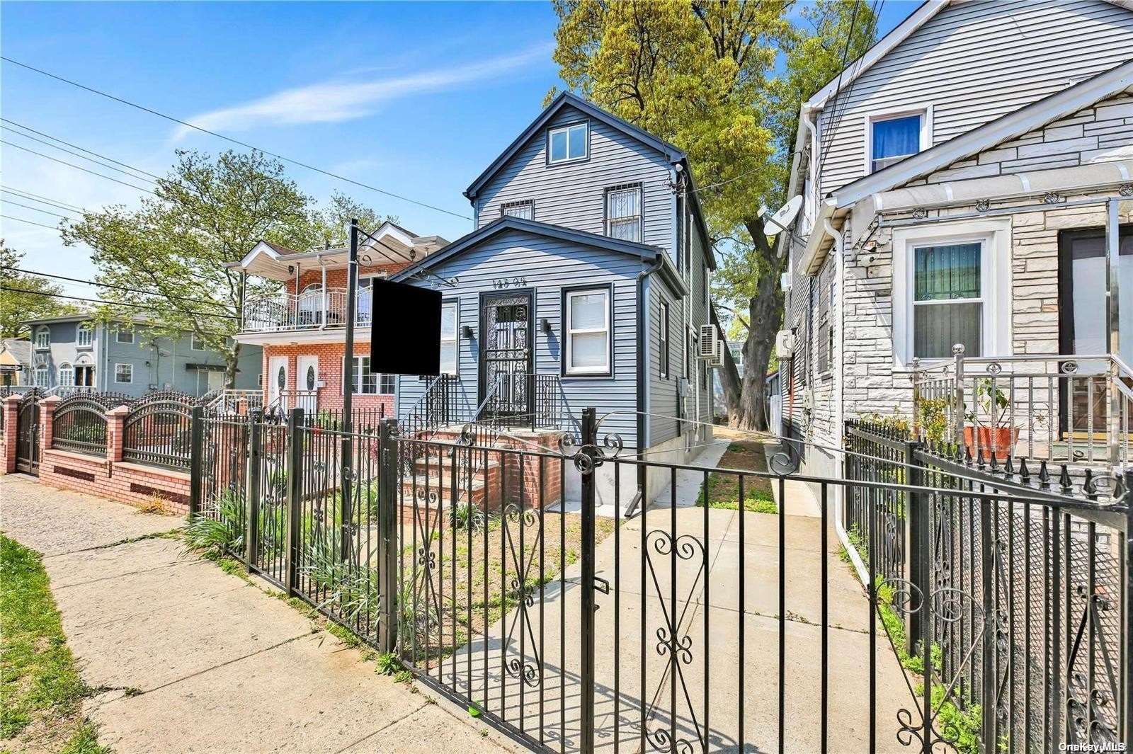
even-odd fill
[{"label": "wide white trim around the stone-wall window", "polygon": [[[893,358],[898,370],[913,358],[913,249],[917,247],[983,242],[980,292],[983,301],[982,355],[1010,357],[1012,350],[1011,219],[937,223],[897,229],[893,233]],[[921,366],[945,359],[921,359]]]}]

